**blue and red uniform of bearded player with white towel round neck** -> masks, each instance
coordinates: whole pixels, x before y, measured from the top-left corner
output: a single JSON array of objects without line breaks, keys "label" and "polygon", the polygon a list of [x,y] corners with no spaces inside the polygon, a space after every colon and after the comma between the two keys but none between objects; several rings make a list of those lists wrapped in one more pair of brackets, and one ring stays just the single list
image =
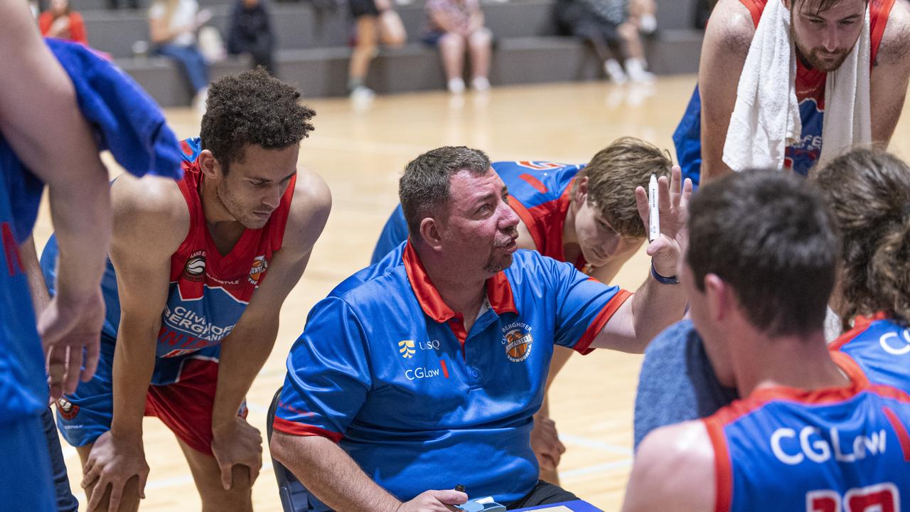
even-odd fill
[{"label": "blue and red uniform of bearded player with white towel round neck", "polygon": [[[752,14],[755,26],[762,19],[764,5],[768,0],[740,0]],[[895,0],[871,0],[869,2],[869,27],[871,39],[870,66],[875,64],[878,47],[885,34],[885,25]],[[796,100],[799,102],[803,133],[799,142],[786,149],[784,167],[806,175],[822,153],[822,120],[824,118],[824,84],[827,73],[805,67],[802,59],[796,59]],[[698,87],[679,126],[673,133],[676,158],[682,168],[682,178],[691,178],[698,185],[702,168],[702,98]]]}]

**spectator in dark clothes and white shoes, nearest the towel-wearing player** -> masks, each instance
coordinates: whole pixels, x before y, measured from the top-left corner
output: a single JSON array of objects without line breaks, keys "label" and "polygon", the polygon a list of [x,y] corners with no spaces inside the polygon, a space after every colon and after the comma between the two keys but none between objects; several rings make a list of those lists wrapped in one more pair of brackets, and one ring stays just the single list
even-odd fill
[{"label": "spectator in dark clothes and white shoes, nearest the towel-wearing player", "polygon": [[591,46],[613,83],[653,80],[645,70],[638,27],[630,21],[629,0],[558,0],[554,15],[562,33]]}]

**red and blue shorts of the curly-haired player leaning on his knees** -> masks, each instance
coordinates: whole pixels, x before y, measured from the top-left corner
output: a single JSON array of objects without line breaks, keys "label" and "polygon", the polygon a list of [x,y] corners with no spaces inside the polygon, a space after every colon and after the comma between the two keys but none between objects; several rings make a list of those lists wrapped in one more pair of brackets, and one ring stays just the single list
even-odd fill
[{"label": "red and blue shorts of the curly-haired player leaning on his knees", "polygon": [[[177,438],[207,455],[212,453],[212,405],[220,353],[217,344],[176,357],[158,357],[146,397],[147,416],[156,416]],[[90,445],[110,430],[113,368],[114,343],[103,336],[95,376],[57,401],[57,428],[70,445]],[[238,414],[246,417],[246,404]]]}]

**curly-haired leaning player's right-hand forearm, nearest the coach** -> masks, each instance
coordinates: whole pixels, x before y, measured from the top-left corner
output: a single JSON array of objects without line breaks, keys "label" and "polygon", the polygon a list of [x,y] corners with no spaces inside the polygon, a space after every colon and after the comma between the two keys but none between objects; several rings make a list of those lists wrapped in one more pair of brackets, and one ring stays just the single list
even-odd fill
[{"label": "curly-haired leaning player's right-hand forearm, nearest the coach", "polygon": [[212,433],[216,437],[223,428],[235,425],[240,404],[275,346],[277,315],[258,327],[252,332],[252,328],[238,325],[221,342],[215,403],[212,405]]}]

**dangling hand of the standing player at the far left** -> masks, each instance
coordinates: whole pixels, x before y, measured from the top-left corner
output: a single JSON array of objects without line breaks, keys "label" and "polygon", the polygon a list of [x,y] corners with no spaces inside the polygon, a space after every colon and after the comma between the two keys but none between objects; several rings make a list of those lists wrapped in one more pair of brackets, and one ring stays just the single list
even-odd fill
[{"label": "dangling hand of the standing player at the far left", "polygon": [[61,290],[41,312],[38,333],[45,349],[51,398],[76,392],[80,376],[95,374],[101,344],[105,302],[98,288],[88,297]]}]

